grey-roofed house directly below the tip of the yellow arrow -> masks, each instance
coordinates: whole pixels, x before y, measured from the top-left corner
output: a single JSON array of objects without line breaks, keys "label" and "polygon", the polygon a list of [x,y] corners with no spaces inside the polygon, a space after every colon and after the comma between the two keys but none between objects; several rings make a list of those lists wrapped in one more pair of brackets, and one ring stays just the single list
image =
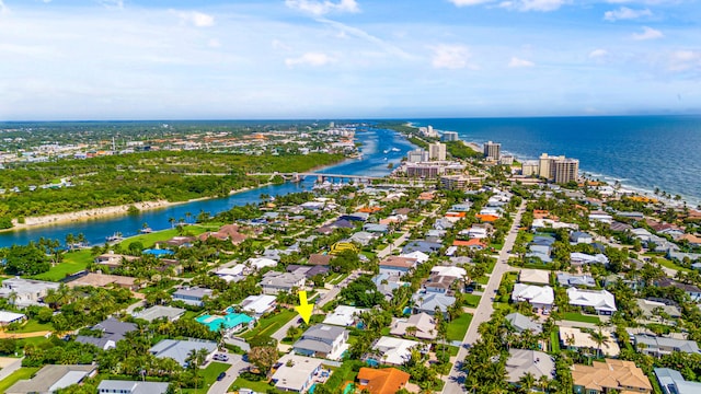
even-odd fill
[{"label": "grey-roofed house directly below the tip of the yellow arrow", "polygon": [[338,360],[348,348],[348,331],[338,326],[317,324],[302,334],[295,343],[295,352],[309,356]]}]

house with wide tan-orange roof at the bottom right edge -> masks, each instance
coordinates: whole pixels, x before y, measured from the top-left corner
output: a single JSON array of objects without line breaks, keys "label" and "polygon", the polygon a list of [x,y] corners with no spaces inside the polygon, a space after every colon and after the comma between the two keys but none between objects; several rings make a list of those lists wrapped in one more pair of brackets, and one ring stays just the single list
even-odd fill
[{"label": "house with wide tan-orange roof at the bottom right edge", "polygon": [[605,359],[591,366],[572,366],[575,394],[652,393],[653,386],[642,369],[633,361]]}]

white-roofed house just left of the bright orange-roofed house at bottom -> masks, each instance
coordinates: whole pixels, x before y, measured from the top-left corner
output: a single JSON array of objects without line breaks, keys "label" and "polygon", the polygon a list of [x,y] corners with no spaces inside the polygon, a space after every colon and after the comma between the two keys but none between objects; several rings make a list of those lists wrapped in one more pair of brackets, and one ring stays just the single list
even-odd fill
[{"label": "white-roofed house just left of the bright orange-roofed house at bottom", "polygon": [[277,361],[271,384],[283,392],[306,393],[321,372],[321,360],[287,354]]}]

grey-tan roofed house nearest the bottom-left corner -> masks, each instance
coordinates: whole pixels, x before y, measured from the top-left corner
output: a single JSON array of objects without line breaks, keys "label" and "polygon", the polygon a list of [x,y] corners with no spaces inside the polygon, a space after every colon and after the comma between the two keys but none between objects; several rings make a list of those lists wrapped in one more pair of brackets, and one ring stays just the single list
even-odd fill
[{"label": "grey-tan roofed house nearest the bottom-left corner", "polygon": [[44,366],[34,378],[21,380],[4,391],[5,394],[48,394],[79,384],[97,373],[96,364]]}]

